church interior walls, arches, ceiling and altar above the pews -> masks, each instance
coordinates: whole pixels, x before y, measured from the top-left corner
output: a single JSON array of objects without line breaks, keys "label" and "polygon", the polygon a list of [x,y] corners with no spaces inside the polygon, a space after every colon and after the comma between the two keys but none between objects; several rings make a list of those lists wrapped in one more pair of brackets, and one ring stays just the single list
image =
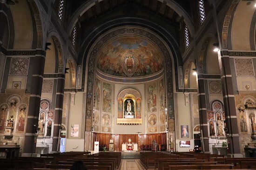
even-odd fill
[{"label": "church interior walls, arches, ceiling and altar above the pews", "polygon": [[256,157],[254,0],[0,0],[0,23],[0,158]]}]

